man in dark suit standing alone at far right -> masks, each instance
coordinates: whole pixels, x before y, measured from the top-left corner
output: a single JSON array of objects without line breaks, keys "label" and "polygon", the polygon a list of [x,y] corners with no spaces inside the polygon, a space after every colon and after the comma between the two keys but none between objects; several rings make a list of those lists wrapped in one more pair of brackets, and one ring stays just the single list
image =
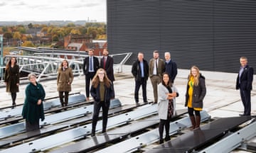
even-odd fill
[{"label": "man in dark suit standing alone at far right", "polygon": [[238,73],[235,89],[240,89],[240,96],[242,105],[244,106],[244,112],[240,115],[250,115],[251,112],[251,101],[250,93],[252,90],[253,80],[253,68],[247,64],[246,57],[240,57],[240,71]]}]

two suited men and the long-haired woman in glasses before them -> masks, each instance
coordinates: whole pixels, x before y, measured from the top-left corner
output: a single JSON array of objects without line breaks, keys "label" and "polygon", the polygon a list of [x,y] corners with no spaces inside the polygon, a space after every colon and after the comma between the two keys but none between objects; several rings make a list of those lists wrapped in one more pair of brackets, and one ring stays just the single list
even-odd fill
[{"label": "two suited men and the long-haired woman in glasses before them", "polygon": [[[106,132],[110,100],[114,99],[114,60],[108,55],[109,52],[107,48],[103,50],[103,57],[100,62],[98,61],[97,57],[94,57],[93,53],[93,49],[89,50],[89,56],[85,58],[82,67],[85,74],[86,100],[90,101],[89,92],[94,100],[92,114],[92,136],[95,135],[100,108],[102,108],[102,133]],[[91,88],[90,82],[92,82]]]}]

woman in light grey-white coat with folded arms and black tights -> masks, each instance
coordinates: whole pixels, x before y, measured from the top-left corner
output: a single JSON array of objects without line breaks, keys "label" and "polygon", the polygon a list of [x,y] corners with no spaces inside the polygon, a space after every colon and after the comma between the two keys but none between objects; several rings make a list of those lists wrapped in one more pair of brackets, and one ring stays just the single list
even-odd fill
[{"label": "woman in light grey-white coat with folded arms and black tights", "polygon": [[[164,72],[162,82],[158,85],[158,113],[160,118],[159,123],[159,143],[169,141],[169,129],[171,118],[176,115],[176,101],[178,91],[171,83],[169,74]],[[166,130],[166,137],[163,140],[164,127]]]}]

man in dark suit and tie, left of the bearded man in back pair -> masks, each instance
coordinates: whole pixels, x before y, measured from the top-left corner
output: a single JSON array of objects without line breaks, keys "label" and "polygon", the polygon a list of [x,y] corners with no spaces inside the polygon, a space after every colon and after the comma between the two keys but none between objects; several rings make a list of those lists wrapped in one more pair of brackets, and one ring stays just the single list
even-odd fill
[{"label": "man in dark suit and tie, left of the bearded man in back pair", "polygon": [[100,68],[99,60],[97,57],[93,56],[94,50],[89,50],[89,57],[85,57],[82,70],[85,74],[85,93],[86,101],[89,101],[89,92],[90,92],[90,81],[95,76],[97,69]]}]

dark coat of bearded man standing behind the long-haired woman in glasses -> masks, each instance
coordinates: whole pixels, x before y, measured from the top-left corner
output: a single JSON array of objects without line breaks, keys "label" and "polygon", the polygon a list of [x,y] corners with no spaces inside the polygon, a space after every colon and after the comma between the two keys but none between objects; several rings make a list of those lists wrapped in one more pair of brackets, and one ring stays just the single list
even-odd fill
[{"label": "dark coat of bearded man standing behind the long-haired woman in glasses", "polygon": [[[107,72],[107,77],[110,81],[114,81],[114,60],[112,57],[107,56],[107,61],[105,62],[105,71]],[[103,58],[100,60],[100,68],[104,69],[104,60]]]}]

